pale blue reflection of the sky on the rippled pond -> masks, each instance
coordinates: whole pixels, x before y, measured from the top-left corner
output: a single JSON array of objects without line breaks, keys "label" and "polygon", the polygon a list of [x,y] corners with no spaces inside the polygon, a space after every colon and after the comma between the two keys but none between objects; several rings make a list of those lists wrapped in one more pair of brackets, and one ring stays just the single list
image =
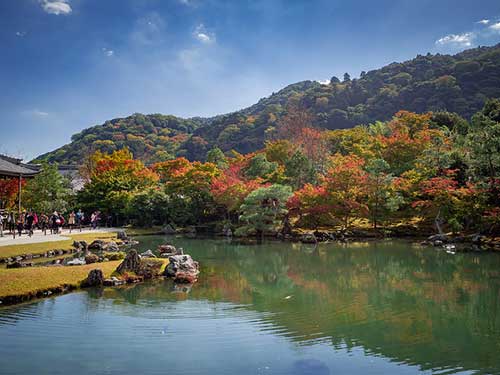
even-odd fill
[{"label": "pale blue reflection of the sky on the rippled pond", "polygon": [[61,296],[2,311],[0,368],[5,374],[75,375],[419,372],[367,356],[362,347],[298,345],[263,315],[229,303],[148,307],[107,299],[95,304],[85,292]]}]

